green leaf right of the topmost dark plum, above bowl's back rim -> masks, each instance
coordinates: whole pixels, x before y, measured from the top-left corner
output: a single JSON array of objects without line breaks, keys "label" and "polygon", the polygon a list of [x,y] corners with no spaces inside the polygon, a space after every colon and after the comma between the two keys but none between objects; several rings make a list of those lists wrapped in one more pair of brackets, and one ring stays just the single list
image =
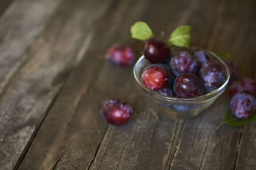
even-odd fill
[{"label": "green leaf right of the topmost dark plum, above bowl's back rim", "polygon": [[180,47],[189,47],[191,34],[191,26],[179,26],[170,35],[169,43]]}]

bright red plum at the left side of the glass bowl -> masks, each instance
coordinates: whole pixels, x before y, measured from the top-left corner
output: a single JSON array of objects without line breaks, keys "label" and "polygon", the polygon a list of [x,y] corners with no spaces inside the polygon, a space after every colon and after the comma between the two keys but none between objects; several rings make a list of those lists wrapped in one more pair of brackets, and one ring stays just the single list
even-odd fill
[{"label": "bright red plum at the left side of the glass bowl", "polygon": [[146,88],[157,91],[165,88],[168,83],[168,73],[163,67],[153,65],[145,69],[141,81]]}]

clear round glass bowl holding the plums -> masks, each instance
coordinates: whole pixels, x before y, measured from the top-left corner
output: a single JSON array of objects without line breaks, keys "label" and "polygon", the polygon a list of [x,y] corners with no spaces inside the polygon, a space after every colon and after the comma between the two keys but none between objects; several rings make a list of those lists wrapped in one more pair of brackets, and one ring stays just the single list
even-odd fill
[{"label": "clear round glass bowl holding the plums", "polygon": [[[168,97],[158,94],[155,91],[151,91],[142,84],[141,75],[143,74],[145,68],[154,64],[148,62],[148,60],[145,59],[144,56],[140,57],[140,59],[135,63],[133,72],[134,78],[137,82],[137,86],[138,88],[140,88],[148,103],[155,111],[165,113],[171,119],[189,119],[197,116],[199,113],[206,110],[210,105],[212,105],[212,103],[218,98],[218,96],[220,96],[225,91],[230,78],[230,72],[227,68],[227,65],[214,53],[201,48],[197,49],[200,49],[207,53],[210,59],[218,60],[227,69],[227,77],[224,84],[220,88],[211,91],[210,93],[203,96],[193,98]],[[192,52],[193,48],[172,48],[172,54],[174,55],[180,51]]]}]

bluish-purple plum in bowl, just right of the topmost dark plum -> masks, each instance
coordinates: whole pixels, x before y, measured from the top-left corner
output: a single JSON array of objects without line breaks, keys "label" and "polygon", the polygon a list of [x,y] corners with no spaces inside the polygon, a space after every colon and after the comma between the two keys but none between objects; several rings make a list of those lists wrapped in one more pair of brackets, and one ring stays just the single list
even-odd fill
[{"label": "bluish-purple plum in bowl, just right of the topmost dark plum", "polygon": [[171,58],[169,66],[172,70],[172,73],[175,76],[185,73],[194,73],[196,74],[198,70],[198,65],[196,60],[192,57],[189,52],[180,52]]}]

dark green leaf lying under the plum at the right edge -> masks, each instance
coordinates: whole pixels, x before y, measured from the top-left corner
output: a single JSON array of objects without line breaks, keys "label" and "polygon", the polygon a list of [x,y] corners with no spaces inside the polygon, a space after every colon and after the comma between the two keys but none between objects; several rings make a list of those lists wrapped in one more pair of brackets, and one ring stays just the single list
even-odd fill
[{"label": "dark green leaf lying under the plum at the right edge", "polygon": [[252,122],[256,119],[256,113],[252,114],[250,117],[239,119],[236,116],[233,115],[232,111],[228,109],[226,113],[224,114],[223,121],[227,123],[228,125],[232,126],[241,126],[245,125],[247,123]]}]

